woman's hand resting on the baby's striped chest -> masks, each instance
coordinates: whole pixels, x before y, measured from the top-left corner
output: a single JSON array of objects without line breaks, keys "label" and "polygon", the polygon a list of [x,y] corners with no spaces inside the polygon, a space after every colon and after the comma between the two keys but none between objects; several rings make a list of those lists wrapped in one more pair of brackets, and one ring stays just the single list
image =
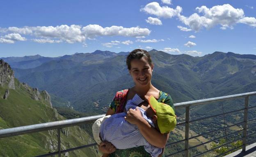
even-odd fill
[{"label": "woman's hand resting on the baby's striped chest", "polygon": [[124,119],[130,124],[135,125],[144,120],[138,107],[136,107],[135,110],[130,108],[129,111],[127,111],[127,115],[124,117]]}]

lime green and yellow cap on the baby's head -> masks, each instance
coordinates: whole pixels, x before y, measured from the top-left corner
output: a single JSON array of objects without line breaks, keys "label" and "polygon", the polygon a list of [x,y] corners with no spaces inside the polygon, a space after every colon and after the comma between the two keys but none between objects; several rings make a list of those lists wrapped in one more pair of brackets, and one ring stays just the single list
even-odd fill
[{"label": "lime green and yellow cap on the baby's head", "polygon": [[164,103],[158,102],[153,95],[149,97],[149,105],[156,113],[158,127],[160,132],[169,133],[176,126],[176,115],[174,113],[174,109]]}]

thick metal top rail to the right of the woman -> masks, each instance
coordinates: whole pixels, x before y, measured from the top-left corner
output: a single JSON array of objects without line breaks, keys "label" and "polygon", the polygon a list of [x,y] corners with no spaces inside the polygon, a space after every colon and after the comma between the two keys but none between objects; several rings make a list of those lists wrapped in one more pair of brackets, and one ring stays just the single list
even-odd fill
[{"label": "thick metal top rail to the right of the woman", "polygon": [[194,100],[194,101],[189,101],[189,102],[181,102],[181,103],[176,103],[174,104],[174,107],[180,108],[180,107],[185,107],[185,106],[194,106],[194,105],[200,105],[200,104],[206,104],[210,102],[218,102],[222,100],[230,100],[234,98],[239,98],[239,97],[246,97],[250,95],[256,95],[255,92],[249,92],[249,93],[242,93],[242,94],[235,94],[235,95],[227,95],[227,96],[222,96],[222,97],[213,97],[209,99],[201,99],[201,100]]}]

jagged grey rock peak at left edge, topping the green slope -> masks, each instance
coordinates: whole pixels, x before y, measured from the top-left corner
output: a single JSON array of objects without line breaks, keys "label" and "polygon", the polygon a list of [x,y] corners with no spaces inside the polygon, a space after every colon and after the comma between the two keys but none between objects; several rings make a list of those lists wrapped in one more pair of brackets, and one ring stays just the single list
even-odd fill
[{"label": "jagged grey rock peak at left edge, topping the green slope", "polygon": [[8,86],[8,88],[15,89],[14,86],[14,71],[11,66],[4,60],[0,60],[0,86]]}]

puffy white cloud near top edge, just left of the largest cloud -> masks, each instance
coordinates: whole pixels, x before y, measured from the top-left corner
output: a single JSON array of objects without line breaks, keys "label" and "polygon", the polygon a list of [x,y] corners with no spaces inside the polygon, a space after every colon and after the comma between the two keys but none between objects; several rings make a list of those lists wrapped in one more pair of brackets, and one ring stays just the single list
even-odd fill
[{"label": "puffy white cloud near top edge, just left of the largest cloud", "polygon": [[155,15],[158,18],[172,18],[181,13],[182,8],[180,6],[177,6],[176,9],[167,6],[161,7],[158,2],[151,2],[146,4],[140,11]]}]

